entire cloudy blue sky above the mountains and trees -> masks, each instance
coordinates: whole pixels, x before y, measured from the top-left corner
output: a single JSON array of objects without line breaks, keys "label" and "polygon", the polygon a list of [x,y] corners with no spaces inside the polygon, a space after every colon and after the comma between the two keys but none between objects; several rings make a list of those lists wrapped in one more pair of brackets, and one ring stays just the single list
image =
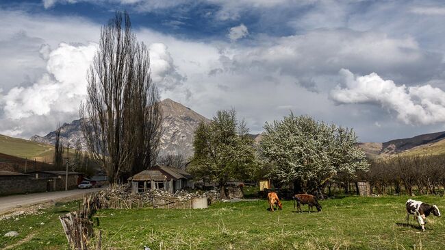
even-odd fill
[{"label": "entire cloudy blue sky above the mountains and trees", "polygon": [[361,142],[445,130],[445,3],[0,0],[0,134],[79,118],[101,26],[127,10],[162,99],[251,133],[293,112]]}]

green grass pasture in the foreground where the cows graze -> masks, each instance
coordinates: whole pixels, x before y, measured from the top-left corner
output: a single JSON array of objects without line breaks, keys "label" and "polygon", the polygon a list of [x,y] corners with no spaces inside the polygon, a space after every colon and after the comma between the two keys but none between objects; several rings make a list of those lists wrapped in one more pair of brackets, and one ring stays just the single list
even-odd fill
[{"label": "green grass pasture in the foreground where the cows graze", "polygon": [[[416,199],[436,203],[445,211],[442,197]],[[292,201],[283,201],[283,210],[272,213],[264,200],[216,203],[207,210],[100,210],[95,229],[103,232],[104,249],[142,249],[143,245],[151,249],[445,249],[444,218],[429,216],[427,232],[421,232],[412,217],[414,226],[407,226],[406,200],[329,199],[321,201],[322,212],[311,214],[293,212]],[[16,229],[24,238],[34,232],[32,240],[15,249],[64,249],[66,239],[57,215],[66,208],[0,221],[0,234]],[[0,248],[17,240],[0,236]]]}]

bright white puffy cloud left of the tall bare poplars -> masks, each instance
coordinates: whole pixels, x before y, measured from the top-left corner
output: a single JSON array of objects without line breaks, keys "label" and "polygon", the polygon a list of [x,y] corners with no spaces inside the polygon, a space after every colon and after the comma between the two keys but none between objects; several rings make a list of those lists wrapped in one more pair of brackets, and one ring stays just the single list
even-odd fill
[{"label": "bright white puffy cloud left of the tall bare poplars", "polygon": [[47,73],[28,87],[14,87],[0,96],[6,118],[21,119],[47,115],[52,110],[77,112],[86,95],[86,71],[97,45],[61,43],[48,55]]}]

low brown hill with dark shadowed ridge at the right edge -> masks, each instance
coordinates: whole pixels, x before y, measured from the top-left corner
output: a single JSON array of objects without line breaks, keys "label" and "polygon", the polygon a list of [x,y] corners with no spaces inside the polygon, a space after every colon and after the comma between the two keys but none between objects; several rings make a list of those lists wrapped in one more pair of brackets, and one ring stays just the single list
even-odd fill
[{"label": "low brown hill with dark shadowed ridge at the right edge", "polygon": [[411,138],[389,140],[387,142],[364,142],[359,147],[369,158],[384,155],[440,155],[445,153],[445,132],[421,134]]}]

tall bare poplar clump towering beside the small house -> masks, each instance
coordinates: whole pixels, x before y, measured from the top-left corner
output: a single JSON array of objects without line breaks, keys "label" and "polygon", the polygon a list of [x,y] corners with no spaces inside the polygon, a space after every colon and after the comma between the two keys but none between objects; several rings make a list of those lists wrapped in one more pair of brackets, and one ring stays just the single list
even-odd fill
[{"label": "tall bare poplar clump towering beside the small house", "polygon": [[157,157],[161,117],[149,66],[149,52],[131,32],[129,15],[116,12],[101,29],[88,97],[79,110],[88,149],[112,186],[122,173],[136,164],[147,168]]}]

